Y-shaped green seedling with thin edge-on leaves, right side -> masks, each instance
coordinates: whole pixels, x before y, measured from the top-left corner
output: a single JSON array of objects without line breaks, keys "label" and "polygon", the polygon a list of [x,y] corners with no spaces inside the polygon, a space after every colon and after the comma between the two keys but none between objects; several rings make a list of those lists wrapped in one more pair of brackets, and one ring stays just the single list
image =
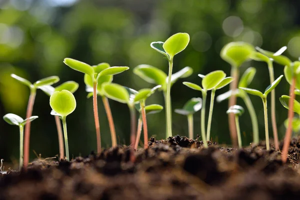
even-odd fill
[{"label": "Y-shaped green seedling with thin edge-on leaves, right side", "polygon": [[280,82],[281,78],[283,75],[280,75],[276,80],[274,80],[268,87],[266,87],[264,93],[256,90],[256,89],[250,89],[247,87],[239,87],[240,89],[243,89],[249,94],[259,96],[262,100],[263,103],[263,114],[264,114],[264,129],[265,129],[265,144],[266,144],[266,149],[269,150],[270,145],[269,145],[269,137],[268,137],[268,124],[267,124],[267,102],[266,102],[266,97],[269,92],[271,92],[277,84]]}]

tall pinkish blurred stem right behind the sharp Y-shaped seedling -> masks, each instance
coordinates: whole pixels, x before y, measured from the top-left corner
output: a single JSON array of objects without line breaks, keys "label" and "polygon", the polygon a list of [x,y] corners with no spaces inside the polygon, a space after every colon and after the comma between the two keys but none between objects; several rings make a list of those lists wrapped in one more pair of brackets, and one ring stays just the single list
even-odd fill
[{"label": "tall pinkish blurred stem right behind the sharp Y-shaped seedling", "polygon": [[[270,75],[270,84],[274,82],[274,69],[273,62],[270,60],[268,62],[268,70]],[[278,150],[278,133],[277,133],[277,125],[276,125],[276,112],[275,112],[275,89],[271,91],[271,120],[272,120],[272,129],[273,129],[273,138],[274,138],[274,146],[275,149]]]}]

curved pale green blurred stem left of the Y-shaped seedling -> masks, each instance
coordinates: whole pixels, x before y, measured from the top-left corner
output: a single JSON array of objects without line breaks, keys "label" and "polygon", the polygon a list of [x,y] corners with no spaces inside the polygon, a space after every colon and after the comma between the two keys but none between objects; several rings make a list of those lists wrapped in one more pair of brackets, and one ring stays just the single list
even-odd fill
[{"label": "curved pale green blurred stem left of the Y-shaped seedling", "polygon": [[246,107],[249,111],[251,122],[252,122],[252,131],[253,131],[253,143],[257,144],[259,142],[259,133],[258,133],[258,122],[257,116],[253,107],[253,104],[249,98],[248,94],[244,94],[242,97],[243,101],[246,104]]}]

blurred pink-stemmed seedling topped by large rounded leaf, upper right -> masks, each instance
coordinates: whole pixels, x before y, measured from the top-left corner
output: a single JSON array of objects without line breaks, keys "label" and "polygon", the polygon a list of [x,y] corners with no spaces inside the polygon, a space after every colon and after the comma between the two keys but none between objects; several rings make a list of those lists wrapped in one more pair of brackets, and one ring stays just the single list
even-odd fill
[{"label": "blurred pink-stemmed seedling topped by large rounded leaf, upper right", "polygon": [[[230,83],[230,90],[234,91],[237,88],[237,82],[239,77],[239,66],[250,59],[252,53],[255,51],[254,47],[246,42],[237,41],[226,44],[220,52],[220,56],[223,60],[231,65],[230,76],[234,80]],[[228,107],[236,104],[236,96],[231,95],[228,102]],[[234,114],[228,114],[228,123],[230,136],[233,145],[236,145],[236,130],[234,125]]]}]

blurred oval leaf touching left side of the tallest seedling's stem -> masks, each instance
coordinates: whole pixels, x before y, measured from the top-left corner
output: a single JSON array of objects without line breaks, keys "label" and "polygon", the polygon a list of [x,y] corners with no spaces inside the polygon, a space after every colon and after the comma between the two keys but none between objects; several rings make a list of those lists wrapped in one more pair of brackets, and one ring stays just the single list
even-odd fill
[{"label": "blurred oval leaf touching left side of the tallest seedling's stem", "polygon": [[167,77],[162,70],[148,64],[137,65],[133,69],[133,73],[149,83],[161,85],[165,84],[165,80]]}]

